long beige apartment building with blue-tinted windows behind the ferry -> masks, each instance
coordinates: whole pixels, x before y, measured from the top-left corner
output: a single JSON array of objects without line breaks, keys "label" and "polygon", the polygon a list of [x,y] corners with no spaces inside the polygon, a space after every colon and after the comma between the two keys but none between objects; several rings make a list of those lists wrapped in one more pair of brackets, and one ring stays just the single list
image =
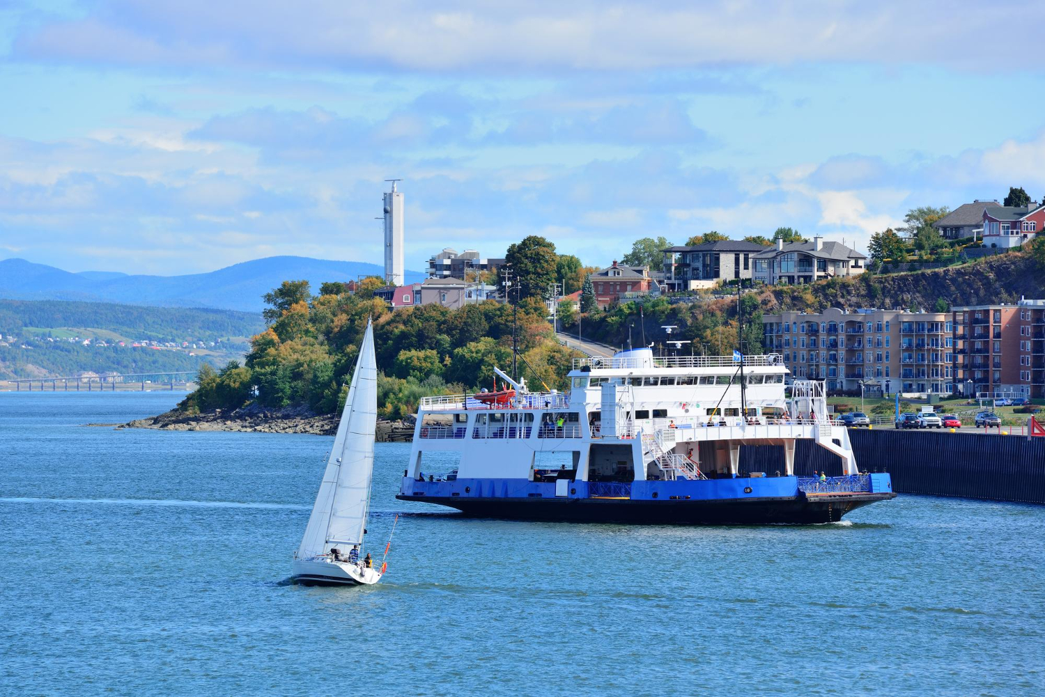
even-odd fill
[{"label": "long beige apartment building with blue-tinted windows behind the ferry", "polygon": [[947,312],[830,307],[762,319],[767,351],[793,378],[823,380],[831,392],[951,394],[953,326]]}]

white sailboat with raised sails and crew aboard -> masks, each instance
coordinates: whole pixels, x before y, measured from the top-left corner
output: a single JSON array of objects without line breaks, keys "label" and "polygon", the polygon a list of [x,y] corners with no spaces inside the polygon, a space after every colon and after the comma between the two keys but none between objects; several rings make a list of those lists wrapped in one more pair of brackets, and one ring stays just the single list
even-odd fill
[{"label": "white sailboat with raised sails and crew aboard", "polygon": [[318,585],[377,583],[387,565],[363,557],[377,424],[373,323],[367,322],[345,409],[316,505],[294,554],[294,580]]}]

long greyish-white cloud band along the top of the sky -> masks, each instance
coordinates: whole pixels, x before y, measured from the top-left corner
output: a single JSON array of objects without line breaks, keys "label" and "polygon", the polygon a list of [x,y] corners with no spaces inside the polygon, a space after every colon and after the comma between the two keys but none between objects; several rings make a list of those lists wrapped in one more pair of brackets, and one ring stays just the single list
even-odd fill
[{"label": "long greyish-white cloud band along the top of the sky", "polygon": [[[974,17],[975,21],[970,18]],[[27,28],[19,57],[125,65],[279,65],[478,72],[647,70],[721,64],[1037,65],[1041,3],[100,2]],[[1006,50],[982,40],[1004,36]]]}]

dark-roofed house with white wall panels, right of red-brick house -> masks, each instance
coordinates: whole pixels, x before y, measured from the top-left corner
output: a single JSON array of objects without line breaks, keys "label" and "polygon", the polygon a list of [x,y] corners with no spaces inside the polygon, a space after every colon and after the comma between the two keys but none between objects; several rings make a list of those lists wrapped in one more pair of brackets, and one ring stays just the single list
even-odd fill
[{"label": "dark-roofed house with white wall panels, right of red-brick house", "polygon": [[670,247],[661,250],[664,284],[672,291],[693,291],[714,287],[723,280],[751,278],[751,260],[767,249],[737,239]]}]

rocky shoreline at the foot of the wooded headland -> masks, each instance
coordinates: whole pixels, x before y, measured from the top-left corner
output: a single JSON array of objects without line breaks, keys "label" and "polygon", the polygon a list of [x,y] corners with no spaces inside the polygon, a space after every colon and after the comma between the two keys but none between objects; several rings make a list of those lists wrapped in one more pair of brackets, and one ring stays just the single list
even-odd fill
[{"label": "rocky shoreline at the foot of the wooded headland", "polygon": [[[161,431],[238,431],[263,434],[314,434],[332,436],[338,429],[338,415],[315,414],[307,406],[268,409],[250,404],[234,411],[215,410],[185,414],[177,410],[158,416],[122,423],[118,428],[157,428]],[[377,422],[377,441],[409,441],[414,434],[411,421]]]}]

